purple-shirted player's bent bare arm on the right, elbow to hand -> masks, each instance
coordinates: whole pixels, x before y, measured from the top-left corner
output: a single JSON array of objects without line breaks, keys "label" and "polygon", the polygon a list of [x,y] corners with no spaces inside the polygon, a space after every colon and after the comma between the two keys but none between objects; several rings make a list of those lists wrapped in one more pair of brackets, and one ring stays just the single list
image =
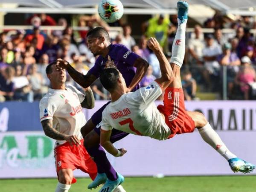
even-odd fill
[{"label": "purple-shirted player's bent bare arm on the right, elbow to hand", "polygon": [[127,87],[126,93],[130,92],[134,89],[134,87],[143,79],[145,76],[145,73],[148,70],[148,62],[145,61],[145,59],[139,57],[134,62],[134,67],[136,67],[136,73],[134,75],[134,78],[131,80],[131,83]]}]

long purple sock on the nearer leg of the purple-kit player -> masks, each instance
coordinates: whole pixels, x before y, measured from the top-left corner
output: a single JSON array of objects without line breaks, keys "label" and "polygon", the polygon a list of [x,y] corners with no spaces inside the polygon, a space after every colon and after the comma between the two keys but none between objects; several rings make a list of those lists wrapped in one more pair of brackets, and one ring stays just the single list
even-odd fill
[{"label": "long purple sock on the nearer leg of the purple-kit player", "polygon": [[99,173],[105,173],[109,180],[116,180],[117,174],[111,163],[108,161],[105,150],[101,145],[96,147],[86,148],[87,152],[93,157]]}]

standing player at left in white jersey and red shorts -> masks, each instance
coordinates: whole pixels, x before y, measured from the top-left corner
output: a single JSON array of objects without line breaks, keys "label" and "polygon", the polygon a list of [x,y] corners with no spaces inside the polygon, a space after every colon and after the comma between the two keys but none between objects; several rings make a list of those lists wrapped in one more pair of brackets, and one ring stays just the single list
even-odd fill
[{"label": "standing player at left in white jersey and red shorts", "polygon": [[[71,85],[65,86],[66,71],[56,64],[57,61],[52,62],[46,68],[51,88],[40,101],[40,119],[44,133],[56,140],[54,155],[59,182],[55,192],[68,192],[71,183],[76,183],[74,169],[88,173],[92,179],[97,175],[96,164],[81,144],[80,133],[86,123],[82,107],[93,108],[94,97],[90,88],[83,94]],[[119,192],[118,188],[115,192]]]}]

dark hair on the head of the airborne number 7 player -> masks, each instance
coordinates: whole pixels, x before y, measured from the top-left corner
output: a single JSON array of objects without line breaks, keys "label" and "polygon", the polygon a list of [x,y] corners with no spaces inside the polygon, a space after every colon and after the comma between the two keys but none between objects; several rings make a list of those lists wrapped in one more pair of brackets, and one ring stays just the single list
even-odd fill
[{"label": "dark hair on the head of the airborne number 7 player", "polygon": [[112,92],[116,88],[118,78],[119,71],[114,67],[104,69],[99,75],[100,82],[109,92]]}]

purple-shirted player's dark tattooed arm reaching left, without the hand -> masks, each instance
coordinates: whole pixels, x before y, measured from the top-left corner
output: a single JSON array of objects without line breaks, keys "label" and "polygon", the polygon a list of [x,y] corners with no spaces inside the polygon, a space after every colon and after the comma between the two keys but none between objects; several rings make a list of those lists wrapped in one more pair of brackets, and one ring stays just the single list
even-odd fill
[{"label": "purple-shirted player's dark tattooed arm reaching left, without the hand", "polygon": [[85,76],[75,70],[71,65],[67,68],[68,74],[76,81],[79,85],[82,87],[86,88],[89,87],[97,78],[92,75],[87,73]]}]

